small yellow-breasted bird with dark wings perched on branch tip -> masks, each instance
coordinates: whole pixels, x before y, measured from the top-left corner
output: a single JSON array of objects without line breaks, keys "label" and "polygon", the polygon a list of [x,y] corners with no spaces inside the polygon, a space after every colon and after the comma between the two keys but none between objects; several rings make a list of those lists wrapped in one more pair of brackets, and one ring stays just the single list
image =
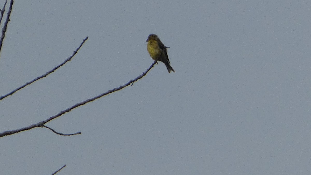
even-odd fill
[{"label": "small yellow-breasted bird with dark wings perched on branch tip", "polygon": [[169,73],[171,71],[175,72],[174,69],[171,67],[171,65],[169,65],[170,64],[169,56],[167,55],[166,49],[169,47],[165,47],[156,34],[150,34],[146,42],[147,42],[147,51],[150,57],[155,61],[163,62]]}]

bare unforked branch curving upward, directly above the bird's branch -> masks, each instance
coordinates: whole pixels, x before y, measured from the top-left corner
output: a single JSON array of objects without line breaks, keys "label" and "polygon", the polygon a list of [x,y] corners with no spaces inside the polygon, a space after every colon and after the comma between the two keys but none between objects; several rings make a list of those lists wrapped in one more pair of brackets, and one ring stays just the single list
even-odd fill
[{"label": "bare unforked branch curving upward, directly above the bird's branch", "polygon": [[16,91],[18,91],[18,90],[20,90],[20,89],[26,87],[27,85],[30,85],[31,83],[34,83],[35,81],[37,81],[37,80],[39,80],[39,79],[41,79],[41,78],[44,78],[44,77],[48,76],[50,73],[54,72],[54,71],[55,71],[56,69],[58,69],[59,67],[61,67],[62,65],[66,64],[68,61],[70,61],[70,60],[72,59],[72,57],[74,57],[74,56],[77,54],[78,50],[81,48],[81,46],[84,44],[84,42],[85,42],[87,39],[88,39],[88,37],[86,37],[86,38],[82,41],[82,43],[81,43],[80,46],[76,49],[76,51],[74,51],[73,54],[72,54],[69,58],[67,58],[63,63],[59,64],[58,66],[56,66],[54,69],[50,70],[49,72],[44,73],[44,74],[41,75],[40,77],[37,77],[37,78],[33,79],[32,81],[30,81],[30,82],[24,84],[23,86],[18,87],[18,88],[15,89],[14,91],[12,91],[12,92],[10,92],[10,93],[4,95],[4,96],[1,96],[1,97],[0,97],[0,100],[2,100],[3,98],[5,98],[5,97],[7,97],[7,96],[12,95],[12,94],[15,93]]}]

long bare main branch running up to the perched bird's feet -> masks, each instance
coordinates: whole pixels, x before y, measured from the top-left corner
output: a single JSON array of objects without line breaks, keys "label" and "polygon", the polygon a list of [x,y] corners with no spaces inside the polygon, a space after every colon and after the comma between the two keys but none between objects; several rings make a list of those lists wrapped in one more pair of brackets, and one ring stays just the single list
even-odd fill
[{"label": "long bare main branch running up to the perched bird's feet", "polygon": [[3,137],[3,136],[6,136],[6,135],[12,135],[12,134],[15,134],[15,133],[18,133],[18,132],[21,132],[21,131],[26,131],[26,130],[31,130],[33,128],[36,128],[36,127],[44,127],[44,124],[46,124],[47,122],[59,117],[59,116],[62,116],[63,114],[65,114],[66,112],[69,112],[71,111],[72,109],[76,108],[76,107],[79,107],[79,106],[82,106],[88,102],[92,102],[100,97],[104,97],[105,95],[108,95],[109,93],[112,93],[112,92],[116,92],[116,91],[119,91],[121,89],[123,89],[124,87],[127,87],[129,86],[131,83],[134,83],[136,82],[137,80],[141,79],[142,77],[144,77],[151,68],[153,68],[153,66],[156,64],[156,61],[154,63],[151,64],[151,66],[146,70],[146,72],[143,72],[141,75],[139,75],[138,77],[136,77],[134,80],[130,80],[128,83],[120,86],[120,87],[117,87],[117,88],[114,88],[114,89],[111,89],[105,93],[102,93],[96,97],[93,97],[93,98],[90,98],[88,100],[85,100],[83,102],[80,102],[80,103],[77,103],[71,107],[69,107],[68,109],[65,109],[64,111],[61,111],[59,112],[58,114],[56,114],[55,116],[52,116],[48,119],[46,119],[45,121],[40,121],[39,123],[37,124],[34,124],[34,125],[30,125],[28,127],[25,127],[25,128],[21,128],[21,129],[17,129],[17,130],[11,130],[11,131],[4,131],[2,133],[0,133],[0,137]]}]

